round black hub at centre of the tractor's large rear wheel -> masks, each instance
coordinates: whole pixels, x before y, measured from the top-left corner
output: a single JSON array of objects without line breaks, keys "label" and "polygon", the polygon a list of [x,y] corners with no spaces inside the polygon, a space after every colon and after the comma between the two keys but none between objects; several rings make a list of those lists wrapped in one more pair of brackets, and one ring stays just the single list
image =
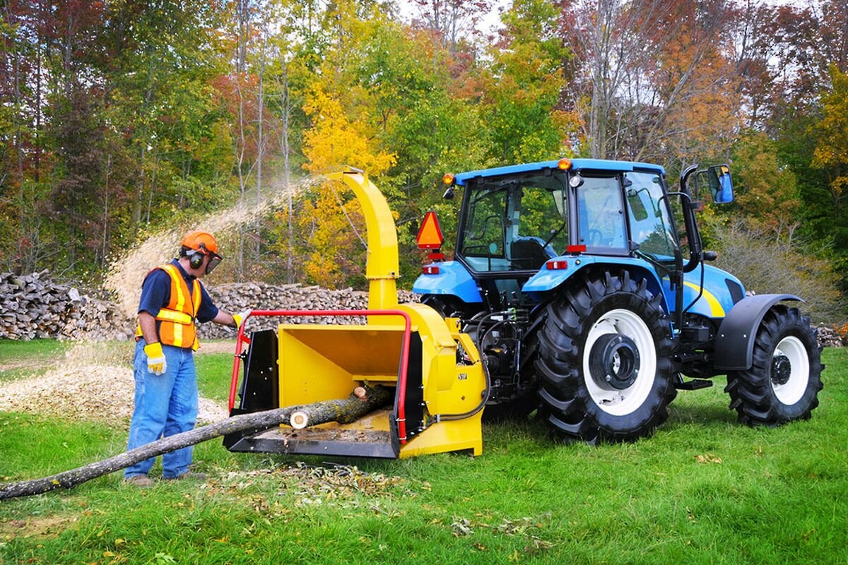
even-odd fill
[{"label": "round black hub at centre of the tractor's large rear wheel", "polygon": [[589,352],[589,373],[602,389],[628,389],[639,377],[639,347],[627,335],[601,335]]}]

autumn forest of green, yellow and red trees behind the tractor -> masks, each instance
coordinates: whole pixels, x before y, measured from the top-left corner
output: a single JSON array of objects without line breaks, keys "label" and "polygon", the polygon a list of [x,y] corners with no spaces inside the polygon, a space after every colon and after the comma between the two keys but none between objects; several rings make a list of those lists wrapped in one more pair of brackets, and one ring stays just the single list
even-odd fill
[{"label": "autumn forest of green, yellow and red trees behind the tractor", "polygon": [[455,234],[446,172],[726,162],[718,266],[844,324],[848,4],[800,4],[0,0],[0,270],[96,285],[240,206],[261,212],[216,233],[212,284],[362,287],[358,203],[320,180],[349,164],[397,214],[409,288],[423,214]]}]

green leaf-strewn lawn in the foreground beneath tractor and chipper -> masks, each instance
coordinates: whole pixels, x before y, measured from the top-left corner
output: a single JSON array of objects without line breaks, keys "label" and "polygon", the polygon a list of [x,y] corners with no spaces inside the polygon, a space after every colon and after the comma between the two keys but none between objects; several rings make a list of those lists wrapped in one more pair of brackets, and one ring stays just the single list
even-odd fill
[{"label": "green leaf-strewn lawn in the foreground beneath tractor and chipper", "polygon": [[[778,429],[736,424],[718,385],[682,391],[652,438],[616,446],[498,424],[482,457],[333,462],[353,469],[212,440],[195,450],[205,485],[135,490],[112,474],[0,501],[0,563],[845,563],[848,352],[823,357],[821,406]],[[202,394],[225,401],[231,368],[231,354],[198,356]],[[0,413],[0,476],[125,441]]]}]

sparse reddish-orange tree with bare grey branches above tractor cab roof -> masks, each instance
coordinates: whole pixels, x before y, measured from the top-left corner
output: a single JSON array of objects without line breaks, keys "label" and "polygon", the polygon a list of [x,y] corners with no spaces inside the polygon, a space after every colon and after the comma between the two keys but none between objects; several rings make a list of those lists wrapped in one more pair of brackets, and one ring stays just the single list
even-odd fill
[{"label": "sparse reddish-orange tree with bare grey branches above tractor cab roof", "polygon": [[733,130],[733,74],[719,34],[726,15],[720,2],[567,3],[575,83],[565,94],[583,117],[583,152],[685,160],[722,128]]}]

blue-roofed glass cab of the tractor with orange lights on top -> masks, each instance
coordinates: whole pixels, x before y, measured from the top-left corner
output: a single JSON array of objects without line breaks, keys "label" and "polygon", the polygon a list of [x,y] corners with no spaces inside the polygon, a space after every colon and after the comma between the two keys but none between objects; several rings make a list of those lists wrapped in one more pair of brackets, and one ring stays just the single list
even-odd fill
[{"label": "blue-roofed glass cab of the tractor with orange lights on top", "polygon": [[[455,186],[464,190],[455,262],[439,273],[455,276],[455,268],[475,281],[479,300],[454,295],[466,304],[532,307],[538,293],[527,292],[527,282],[581,254],[639,256],[664,271],[682,264],[665,171],[657,165],[561,159],[448,175],[446,181],[446,197]],[[429,278],[416,281],[415,290],[438,296],[438,289],[449,289]]]}]

